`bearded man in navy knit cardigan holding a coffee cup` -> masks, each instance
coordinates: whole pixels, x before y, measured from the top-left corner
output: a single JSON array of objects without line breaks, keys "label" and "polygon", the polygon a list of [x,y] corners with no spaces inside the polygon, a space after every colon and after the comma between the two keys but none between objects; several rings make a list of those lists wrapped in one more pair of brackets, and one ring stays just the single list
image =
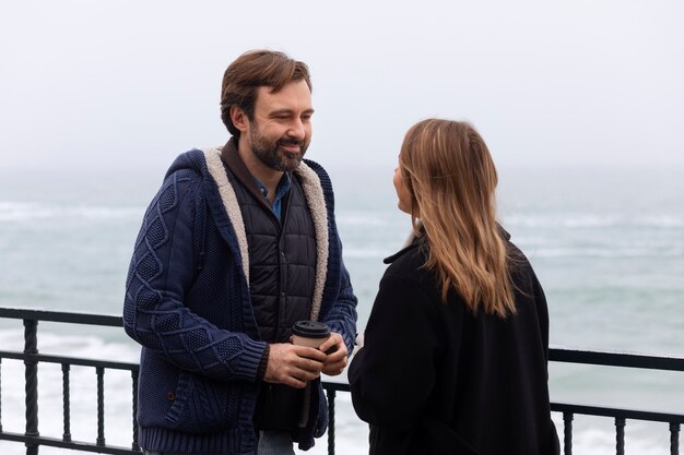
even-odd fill
[{"label": "bearded man in navy knit cardigan holding a coffee cup", "polygon": [[[150,454],[294,454],[323,434],[320,373],[356,335],[330,179],[311,139],[305,63],[241,55],[223,79],[223,147],[180,155],[148,208],[127,279],[126,332],[142,345],[140,445]],[[319,349],[288,343],[328,324]]]}]

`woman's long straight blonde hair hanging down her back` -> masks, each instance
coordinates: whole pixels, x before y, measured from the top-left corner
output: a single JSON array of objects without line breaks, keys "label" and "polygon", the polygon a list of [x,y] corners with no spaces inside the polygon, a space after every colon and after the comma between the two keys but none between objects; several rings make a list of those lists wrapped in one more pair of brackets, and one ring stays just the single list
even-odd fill
[{"label": "woman's long straight blonde hair hanging down her back", "polygon": [[502,318],[515,313],[509,252],[496,221],[498,178],[477,131],[467,122],[423,120],[406,132],[399,164],[443,300],[453,290],[473,313],[480,306]]}]

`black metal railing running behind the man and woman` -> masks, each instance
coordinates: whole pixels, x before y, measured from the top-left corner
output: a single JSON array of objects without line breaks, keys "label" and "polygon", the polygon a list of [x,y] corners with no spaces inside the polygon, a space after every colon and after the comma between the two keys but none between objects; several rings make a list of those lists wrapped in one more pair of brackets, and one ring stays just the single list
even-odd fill
[{"label": "black metal railing running behind the man and woman", "polygon": [[[0,308],[0,319],[22,320],[24,324],[23,351],[0,350],[0,441],[14,441],[26,445],[27,455],[37,455],[40,445],[71,448],[84,452],[105,454],[140,454],[138,444],[138,423],[135,414],[138,408],[138,371],[137,363],[91,360],[75,357],[43,355],[38,351],[37,328],[39,321],[61,322],[71,324],[86,324],[94,326],[121,327],[119,316],[83,314],[42,310],[22,310]],[[25,364],[25,432],[14,433],[2,429],[2,360],[23,360]],[[638,368],[647,370],[665,370],[684,372],[684,358],[642,356],[620,352],[597,352],[585,350],[569,350],[554,348],[550,351],[550,360],[566,363],[583,363],[593,366]],[[62,423],[61,438],[44,436],[38,431],[38,363],[56,363],[61,366],[62,372]],[[94,369],[97,390],[97,434],[94,442],[73,441],[71,435],[71,404],[70,404],[70,369],[72,366]],[[131,444],[129,447],[108,445],[105,439],[105,396],[104,375],[106,370],[123,370],[131,374],[132,414],[131,414]],[[328,453],[335,452],[335,396],[338,392],[349,393],[349,384],[325,382],[323,387],[328,396],[330,424],[328,429]],[[620,409],[612,407],[585,406],[564,403],[552,403],[551,408],[563,415],[563,447],[566,455],[573,453],[573,420],[575,415],[600,416],[613,418],[615,421],[615,452],[624,454],[625,426],[627,420],[664,422],[670,429],[670,454],[679,455],[680,429],[684,423],[684,415],[651,412],[635,409]]]}]

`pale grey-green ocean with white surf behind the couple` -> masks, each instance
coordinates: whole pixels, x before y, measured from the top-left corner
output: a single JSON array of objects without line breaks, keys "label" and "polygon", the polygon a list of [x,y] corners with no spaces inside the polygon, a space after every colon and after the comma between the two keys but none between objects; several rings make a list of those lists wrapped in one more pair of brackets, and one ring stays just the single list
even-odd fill
[{"label": "pale grey-green ocean with white surf behind the couple", "polygon": [[[393,164],[327,167],[363,331],[382,259],[401,248],[409,217],[396,206]],[[132,246],[164,172],[50,169],[27,178],[0,169],[0,307],[120,314]],[[552,345],[684,356],[684,168],[502,166],[499,178],[500,221],[545,290]],[[138,360],[137,345],[121,330],[42,323],[38,333],[44,354]],[[0,349],[21,350],[22,344],[21,322],[0,321]],[[3,360],[1,368],[2,429],[23,432],[23,363]],[[95,374],[74,368],[72,382],[73,439],[92,442]],[[130,444],[130,382],[125,373],[106,374],[109,444]],[[682,373],[550,364],[555,402],[682,412],[683,384]],[[40,433],[60,438],[58,368],[39,367],[39,394]],[[367,453],[367,428],[347,394],[338,394],[337,409],[338,453]],[[562,417],[554,420],[562,434]],[[574,453],[614,453],[611,419],[576,416],[574,424]],[[326,442],[308,453],[327,453]],[[668,426],[628,421],[626,448],[669,453]],[[0,442],[0,453],[23,454],[24,447]]]}]

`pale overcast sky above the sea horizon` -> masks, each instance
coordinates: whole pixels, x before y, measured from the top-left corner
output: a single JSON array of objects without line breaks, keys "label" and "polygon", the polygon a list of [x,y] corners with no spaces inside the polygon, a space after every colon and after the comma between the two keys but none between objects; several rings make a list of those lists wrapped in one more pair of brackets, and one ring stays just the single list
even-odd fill
[{"label": "pale overcast sky above the sea horizon", "polygon": [[222,144],[226,65],[306,61],[321,163],[394,163],[426,117],[499,164],[684,164],[684,2],[2,1],[0,166],[166,168]]}]

